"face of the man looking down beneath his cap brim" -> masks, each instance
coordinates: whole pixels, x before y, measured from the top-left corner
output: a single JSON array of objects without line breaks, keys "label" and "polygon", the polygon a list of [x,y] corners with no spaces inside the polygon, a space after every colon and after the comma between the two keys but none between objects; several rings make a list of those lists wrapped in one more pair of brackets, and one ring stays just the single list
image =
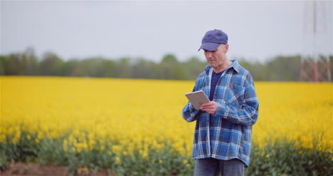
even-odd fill
[{"label": "face of the man looking down beneath his cap brim", "polygon": [[209,66],[216,69],[221,68],[223,66],[223,62],[226,62],[226,52],[228,52],[228,48],[228,44],[221,44],[218,46],[216,51],[208,51],[204,49],[203,51]]}]

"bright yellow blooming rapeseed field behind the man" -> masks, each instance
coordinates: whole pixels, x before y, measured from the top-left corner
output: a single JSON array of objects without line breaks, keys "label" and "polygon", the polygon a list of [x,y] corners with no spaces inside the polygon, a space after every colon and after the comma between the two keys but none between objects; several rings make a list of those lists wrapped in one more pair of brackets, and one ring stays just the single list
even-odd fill
[{"label": "bright yellow blooming rapeseed field behind the man", "polygon": [[[264,147],[286,139],[332,152],[332,85],[256,82],[260,107],[253,142]],[[191,157],[195,123],[183,120],[181,110],[193,86],[194,81],[3,76],[0,143],[63,138],[65,151],[139,151],[142,158],[170,145]]]}]

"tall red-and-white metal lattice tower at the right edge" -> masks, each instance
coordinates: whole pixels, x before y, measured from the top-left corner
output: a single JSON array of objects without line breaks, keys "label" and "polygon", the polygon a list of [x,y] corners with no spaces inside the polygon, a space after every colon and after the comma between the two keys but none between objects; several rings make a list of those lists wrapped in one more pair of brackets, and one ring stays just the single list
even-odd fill
[{"label": "tall red-and-white metal lattice tower at the right edge", "polygon": [[300,81],[331,81],[332,1],[306,1]]}]

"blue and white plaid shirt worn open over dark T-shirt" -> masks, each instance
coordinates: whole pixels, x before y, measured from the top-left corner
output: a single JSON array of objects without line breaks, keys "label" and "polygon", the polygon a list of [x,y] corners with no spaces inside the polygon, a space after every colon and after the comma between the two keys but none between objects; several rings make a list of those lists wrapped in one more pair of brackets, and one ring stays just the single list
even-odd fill
[{"label": "blue and white plaid shirt worn open over dark T-shirt", "polygon": [[[218,160],[238,158],[248,167],[252,125],[258,119],[258,98],[255,94],[250,72],[241,67],[238,61],[223,71],[213,100],[218,103],[215,115],[196,110],[191,103],[183,108],[183,118],[188,122],[196,120],[193,157],[202,159],[213,157]],[[203,90],[209,95],[213,68],[196,79],[194,91]]]}]

